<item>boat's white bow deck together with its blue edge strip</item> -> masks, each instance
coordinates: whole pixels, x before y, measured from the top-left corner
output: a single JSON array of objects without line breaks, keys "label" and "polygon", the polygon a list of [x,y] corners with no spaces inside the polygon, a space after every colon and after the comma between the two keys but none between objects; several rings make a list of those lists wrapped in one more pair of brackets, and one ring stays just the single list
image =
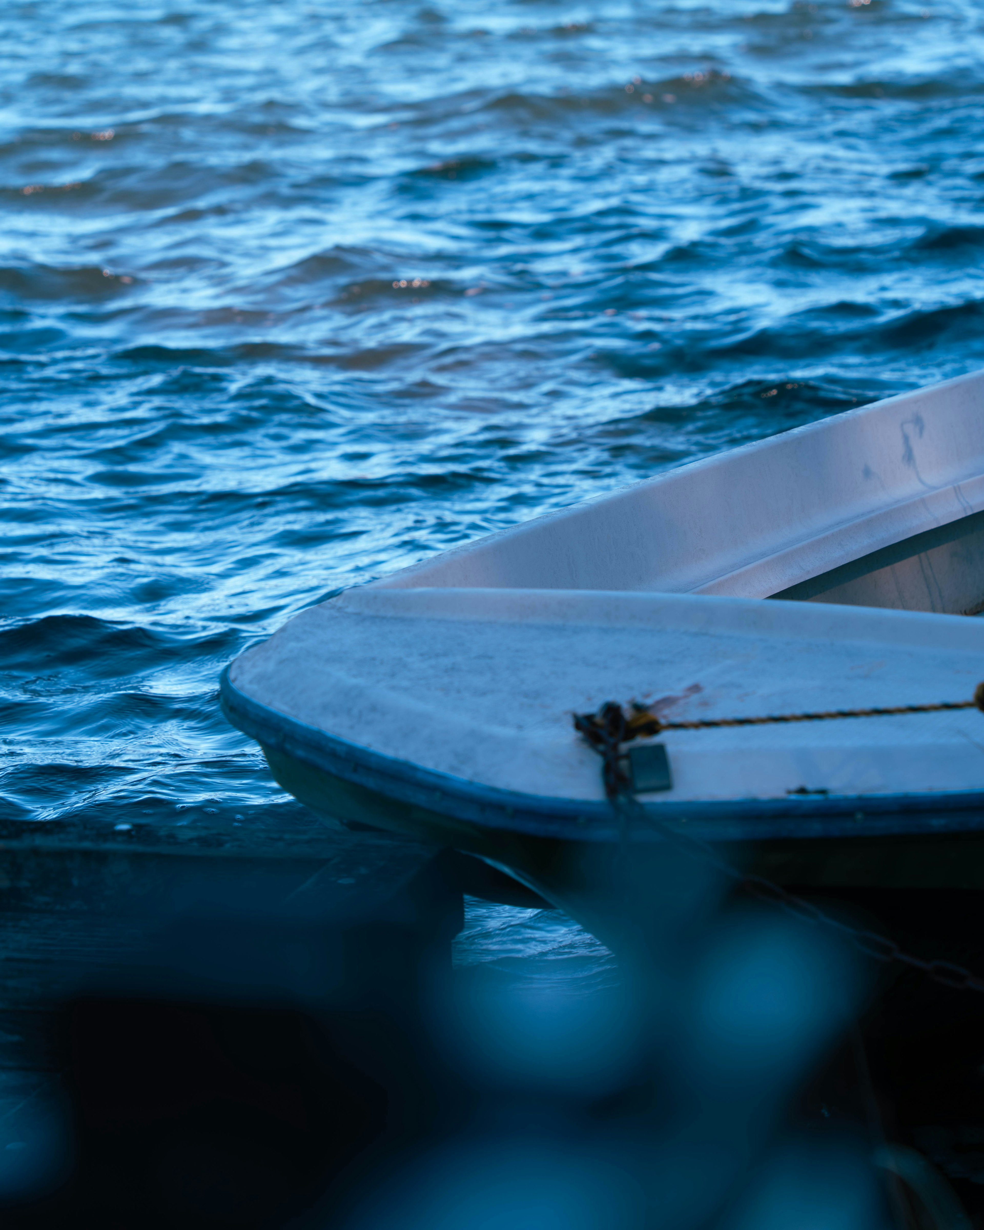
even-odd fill
[{"label": "boat's white bow deck together with its blue edge strip", "polygon": [[[670,780],[642,795],[646,809],[736,841],[977,828],[984,713],[919,706],[966,702],[982,679],[977,620],[684,594],[365,588],[244,654],[223,695],[319,811],[459,844],[493,830],[613,840],[599,760],[572,715],[635,700],[683,727],[659,736]],[[899,706],[914,711],[712,724]]]}]

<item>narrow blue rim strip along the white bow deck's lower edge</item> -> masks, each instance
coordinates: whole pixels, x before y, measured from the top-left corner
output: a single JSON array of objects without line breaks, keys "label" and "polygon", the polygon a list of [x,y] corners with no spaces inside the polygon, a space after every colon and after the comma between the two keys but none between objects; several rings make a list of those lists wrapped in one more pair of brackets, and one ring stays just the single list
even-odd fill
[{"label": "narrow blue rim strip along the white bow deck's lower edge", "polygon": [[[263,747],[374,791],[390,801],[446,815],[459,824],[530,836],[574,841],[614,841],[621,836],[603,800],[524,795],[467,781],[387,756],[256,701],[220,678],[229,722]],[[984,831],[984,791],[919,795],[787,796],[770,800],[642,802],[658,824],[710,841],[763,841],[777,838],[872,838]],[[640,825],[633,840],[663,840],[657,823]]]}]

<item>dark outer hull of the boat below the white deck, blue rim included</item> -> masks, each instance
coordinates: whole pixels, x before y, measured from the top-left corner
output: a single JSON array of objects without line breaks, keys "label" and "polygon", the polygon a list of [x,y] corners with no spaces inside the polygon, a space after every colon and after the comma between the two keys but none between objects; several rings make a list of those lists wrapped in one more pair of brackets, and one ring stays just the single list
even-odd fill
[{"label": "dark outer hull of the boat below the white deck, blue rim included", "polygon": [[641,819],[626,831],[604,802],[496,791],[332,738],[251,700],[228,673],[221,696],[276,780],[325,820],[477,855],[576,916],[584,909],[574,863],[603,868],[625,843],[658,859],[667,828],[711,840],[736,866],[785,886],[984,889],[977,792],[643,804],[656,823]]}]

